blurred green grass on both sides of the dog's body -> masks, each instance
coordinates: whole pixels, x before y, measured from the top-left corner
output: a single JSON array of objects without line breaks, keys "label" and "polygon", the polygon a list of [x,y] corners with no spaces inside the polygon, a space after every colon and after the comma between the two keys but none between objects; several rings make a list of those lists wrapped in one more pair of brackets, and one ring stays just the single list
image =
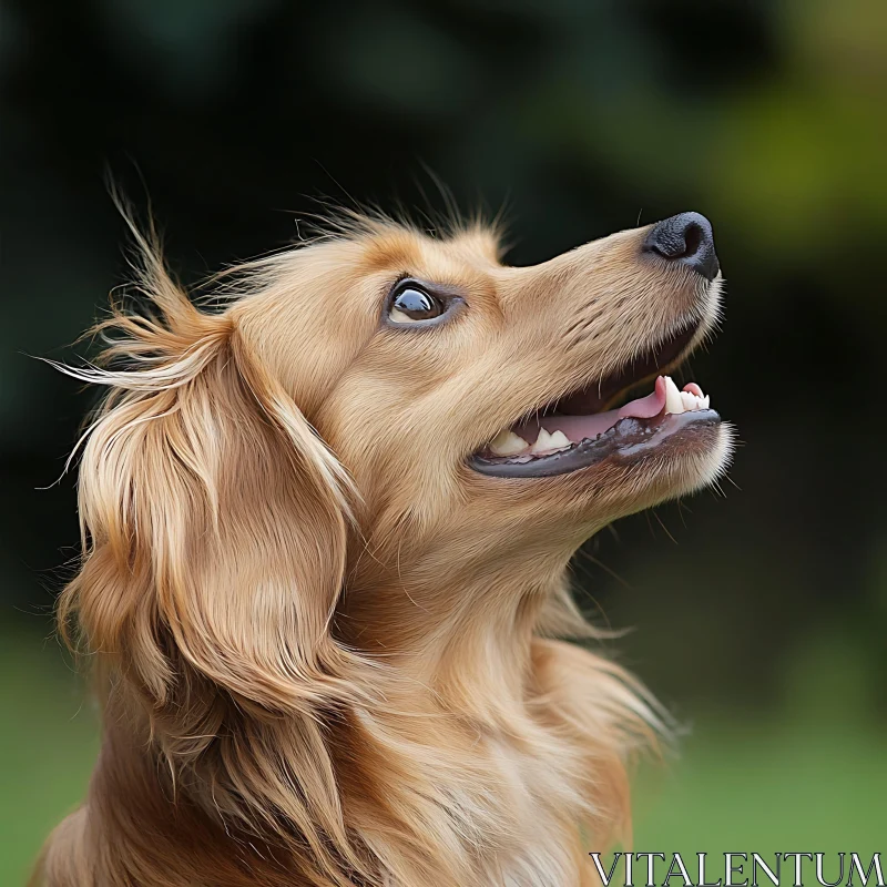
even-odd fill
[{"label": "blurred green grass on both sides of the dog's body", "polygon": [[[0,884],[20,885],[43,837],[83,795],[96,724],[54,642],[0,638]],[[636,850],[692,861],[696,852],[870,858],[887,849],[884,740],[840,700],[822,722],[803,712],[697,718],[677,761],[639,776]],[[723,857],[711,859],[718,877]]]}]

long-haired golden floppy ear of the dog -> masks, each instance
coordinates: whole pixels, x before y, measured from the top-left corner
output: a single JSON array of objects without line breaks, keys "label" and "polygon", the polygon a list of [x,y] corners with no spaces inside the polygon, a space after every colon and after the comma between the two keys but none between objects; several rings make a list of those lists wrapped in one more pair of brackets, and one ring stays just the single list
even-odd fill
[{"label": "long-haired golden floppy ear of the dog", "polygon": [[193,681],[307,712],[349,685],[329,633],[348,479],[231,312],[195,308],[151,253],[141,284],[156,316],[116,310],[110,367],[68,370],[111,392],[84,436],[62,622],[75,613],[159,715]]}]

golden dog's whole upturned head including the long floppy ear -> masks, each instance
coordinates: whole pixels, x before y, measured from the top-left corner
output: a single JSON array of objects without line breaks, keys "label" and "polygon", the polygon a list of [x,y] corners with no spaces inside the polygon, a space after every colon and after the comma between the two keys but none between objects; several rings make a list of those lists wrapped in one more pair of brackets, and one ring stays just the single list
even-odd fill
[{"label": "golden dog's whole upturned head including the long floppy ear", "polygon": [[707,398],[663,375],[717,316],[697,214],[533,267],[482,228],[364,222],[254,264],[216,313],[146,255],[162,316],[118,313],[129,365],[77,371],[112,395],[65,601],[155,702],[171,657],[262,705],[310,701],[348,656],[329,634],[344,588],[350,638],[395,630],[359,613],[391,582],[434,630],[455,589],[538,591],[603,524],[725,467]]}]

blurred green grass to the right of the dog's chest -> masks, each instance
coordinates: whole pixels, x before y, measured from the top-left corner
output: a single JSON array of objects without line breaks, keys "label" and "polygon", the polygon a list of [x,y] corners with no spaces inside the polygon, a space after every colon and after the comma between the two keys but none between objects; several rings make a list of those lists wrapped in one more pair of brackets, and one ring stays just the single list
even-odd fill
[{"label": "blurred green grass to the right of the dog's chest", "polygon": [[823,723],[702,723],[676,764],[639,783],[638,850],[691,859],[845,850],[870,859],[887,849],[884,737],[846,713]]}]

